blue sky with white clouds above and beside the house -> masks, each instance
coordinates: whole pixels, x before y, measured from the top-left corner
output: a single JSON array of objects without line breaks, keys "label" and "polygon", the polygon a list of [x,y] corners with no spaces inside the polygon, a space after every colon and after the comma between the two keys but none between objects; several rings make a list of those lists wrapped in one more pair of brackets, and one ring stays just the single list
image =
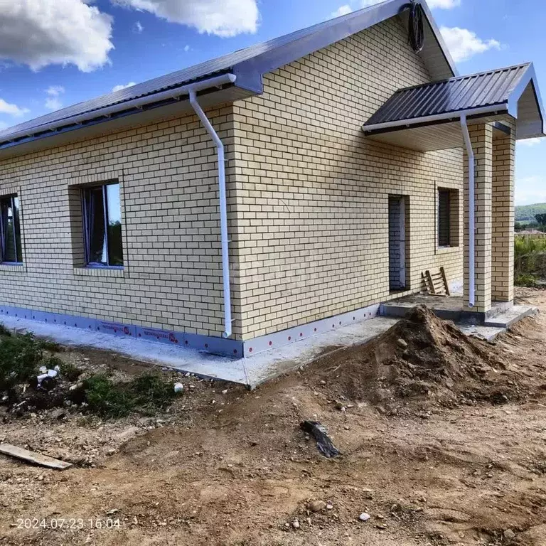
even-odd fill
[{"label": "blue sky with white clouds above and beside the house", "polygon": [[[0,128],[376,3],[0,0]],[[429,0],[460,73],[532,60],[546,95],[546,2]],[[518,144],[516,203],[546,202],[546,139]]]}]

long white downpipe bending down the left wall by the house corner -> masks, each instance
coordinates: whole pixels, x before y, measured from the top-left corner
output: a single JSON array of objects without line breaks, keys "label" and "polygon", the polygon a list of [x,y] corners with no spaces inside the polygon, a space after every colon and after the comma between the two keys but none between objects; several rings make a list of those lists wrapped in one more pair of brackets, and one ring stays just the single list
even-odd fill
[{"label": "long white downpipe bending down the left wall by the house corner", "polygon": [[224,337],[231,336],[231,288],[230,288],[230,249],[228,239],[228,205],[225,192],[225,154],[224,144],[206,117],[197,100],[196,90],[190,90],[190,104],[201,123],[213,139],[218,152],[218,186],[220,188],[220,234],[222,239],[222,276],[224,284]]}]

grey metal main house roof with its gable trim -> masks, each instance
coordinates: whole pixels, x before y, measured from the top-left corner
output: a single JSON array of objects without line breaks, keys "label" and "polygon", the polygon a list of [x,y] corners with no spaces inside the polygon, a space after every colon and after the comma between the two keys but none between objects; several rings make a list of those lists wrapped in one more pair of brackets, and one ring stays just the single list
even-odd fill
[{"label": "grey metal main house roof with its gable trim", "polygon": [[[0,131],[0,148],[14,146],[21,138],[28,141],[34,135],[39,134],[41,130],[43,131],[44,128],[49,132],[50,130],[60,130],[63,127],[68,127],[68,122],[72,117],[82,115],[87,117],[88,114],[88,119],[97,119],[101,116],[101,110],[107,107],[119,105],[119,109],[122,110],[124,102],[176,89],[222,73],[230,72],[237,75],[237,81],[235,82],[237,87],[249,92],[262,92],[262,75],[264,73],[291,63],[293,60],[363,31],[365,28],[388,18],[397,16],[404,11],[405,6],[407,6],[407,0],[387,0],[381,4],[324,21],[286,36],[252,45],[250,48],[235,51],[235,53],[208,60],[205,63],[178,70],[165,76],[156,77],[153,80],[127,87],[124,90],[45,114]],[[425,25],[427,44],[422,53],[424,62],[429,63],[429,71],[432,77],[454,75],[456,74],[456,68],[441,38],[441,33],[439,33],[424,1],[422,1],[422,6],[427,23]],[[109,117],[109,119],[111,118]]]}]

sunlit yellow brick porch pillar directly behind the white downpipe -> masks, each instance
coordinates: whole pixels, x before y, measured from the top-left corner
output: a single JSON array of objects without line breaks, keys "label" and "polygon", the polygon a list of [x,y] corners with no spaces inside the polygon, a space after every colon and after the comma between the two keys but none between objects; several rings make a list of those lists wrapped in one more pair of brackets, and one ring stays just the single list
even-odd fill
[{"label": "sunlit yellow brick porch pillar directly behind the white downpipe", "polygon": [[493,183],[493,126],[469,126],[475,160],[475,299],[469,309],[469,161],[464,156],[464,307],[485,313],[491,309],[491,192]]}]

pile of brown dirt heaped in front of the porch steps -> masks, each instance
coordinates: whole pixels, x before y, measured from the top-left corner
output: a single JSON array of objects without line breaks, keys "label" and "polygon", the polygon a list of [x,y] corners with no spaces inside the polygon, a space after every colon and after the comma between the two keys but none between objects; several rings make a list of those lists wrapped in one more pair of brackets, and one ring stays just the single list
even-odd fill
[{"label": "pile of brown dirt heaped in front of the porch steps", "polygon": [[519,397],[493,347],[470,338],[418,306],[371,343],[321,359],[332,394],[342,400],[390,405],[427,397],[444,405],[472,400],[503,403]]}]

